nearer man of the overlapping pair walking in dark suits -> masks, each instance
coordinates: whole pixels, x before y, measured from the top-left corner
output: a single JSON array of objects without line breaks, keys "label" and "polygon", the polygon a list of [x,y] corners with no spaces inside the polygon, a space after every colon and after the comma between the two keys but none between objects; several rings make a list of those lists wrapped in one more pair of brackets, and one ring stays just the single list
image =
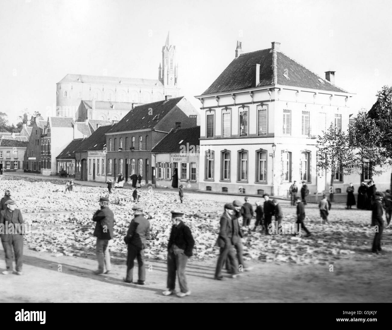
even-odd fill
[{"label": "nearer man of the overlapping pair walking in dark suits", "polygon": [[235,207],[233,204],[225,204],[224,210],[225,211],[220,218],[218,240],[215,244],[215,246],[220,247],[220,254],[215,269],[215,280],[225,280],[225,278],[221,275],[221,271],[223,263],[227,260],[227,258],[229,258],[231,277],[236,278],[238,275],[238,264],[233,242],[233,219],[235,217],[233,211],[235,210]]}]

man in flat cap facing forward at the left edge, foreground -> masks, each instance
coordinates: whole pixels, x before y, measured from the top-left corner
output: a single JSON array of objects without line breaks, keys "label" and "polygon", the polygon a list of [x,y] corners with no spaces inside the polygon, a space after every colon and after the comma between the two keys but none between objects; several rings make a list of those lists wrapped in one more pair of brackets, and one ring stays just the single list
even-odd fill
[{"label": "man in flat cap facing forward at the left edge, foreground", "polygon": [[3,274],[7,275],[12,273],[12,250],[15,254],[16,274],[22,275],[23,266],[23,230],[24,224],[22,213],[19,209],[15,208],[15,201],[9,199],[5,202],[7,209],[0,212],[0,224],[4,228],[2,231],[1,242],[5,254],[5,265],[7,270]]}]

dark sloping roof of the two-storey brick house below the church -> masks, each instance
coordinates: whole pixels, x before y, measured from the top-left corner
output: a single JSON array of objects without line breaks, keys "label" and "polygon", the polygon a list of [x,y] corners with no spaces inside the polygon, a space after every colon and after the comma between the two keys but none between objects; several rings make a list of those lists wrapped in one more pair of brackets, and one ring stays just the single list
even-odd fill
[{"label": "dark sloping roof of the two-storey brick house below the church", "polygon": [[[158,101],[136,106],[123,117],[108,133],[145,130],[153,128],[169,113],[183,97],[176,97],[168,101]],[[149,114],[152,109],[152,115]]]}]

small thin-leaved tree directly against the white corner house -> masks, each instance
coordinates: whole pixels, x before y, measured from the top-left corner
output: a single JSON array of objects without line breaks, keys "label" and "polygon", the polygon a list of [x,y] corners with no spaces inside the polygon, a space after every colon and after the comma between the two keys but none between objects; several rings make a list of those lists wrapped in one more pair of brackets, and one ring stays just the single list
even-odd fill
[{"label": "small thin-leaved tree directly against the white corner house", "polygon": [[354,170],[352,159],[354,153],[349,146],[348,134],[331,124],[323,136],[317,138],[317,167],[331,172],[330,200],[334,201],[335,174],[351,174]]}]

